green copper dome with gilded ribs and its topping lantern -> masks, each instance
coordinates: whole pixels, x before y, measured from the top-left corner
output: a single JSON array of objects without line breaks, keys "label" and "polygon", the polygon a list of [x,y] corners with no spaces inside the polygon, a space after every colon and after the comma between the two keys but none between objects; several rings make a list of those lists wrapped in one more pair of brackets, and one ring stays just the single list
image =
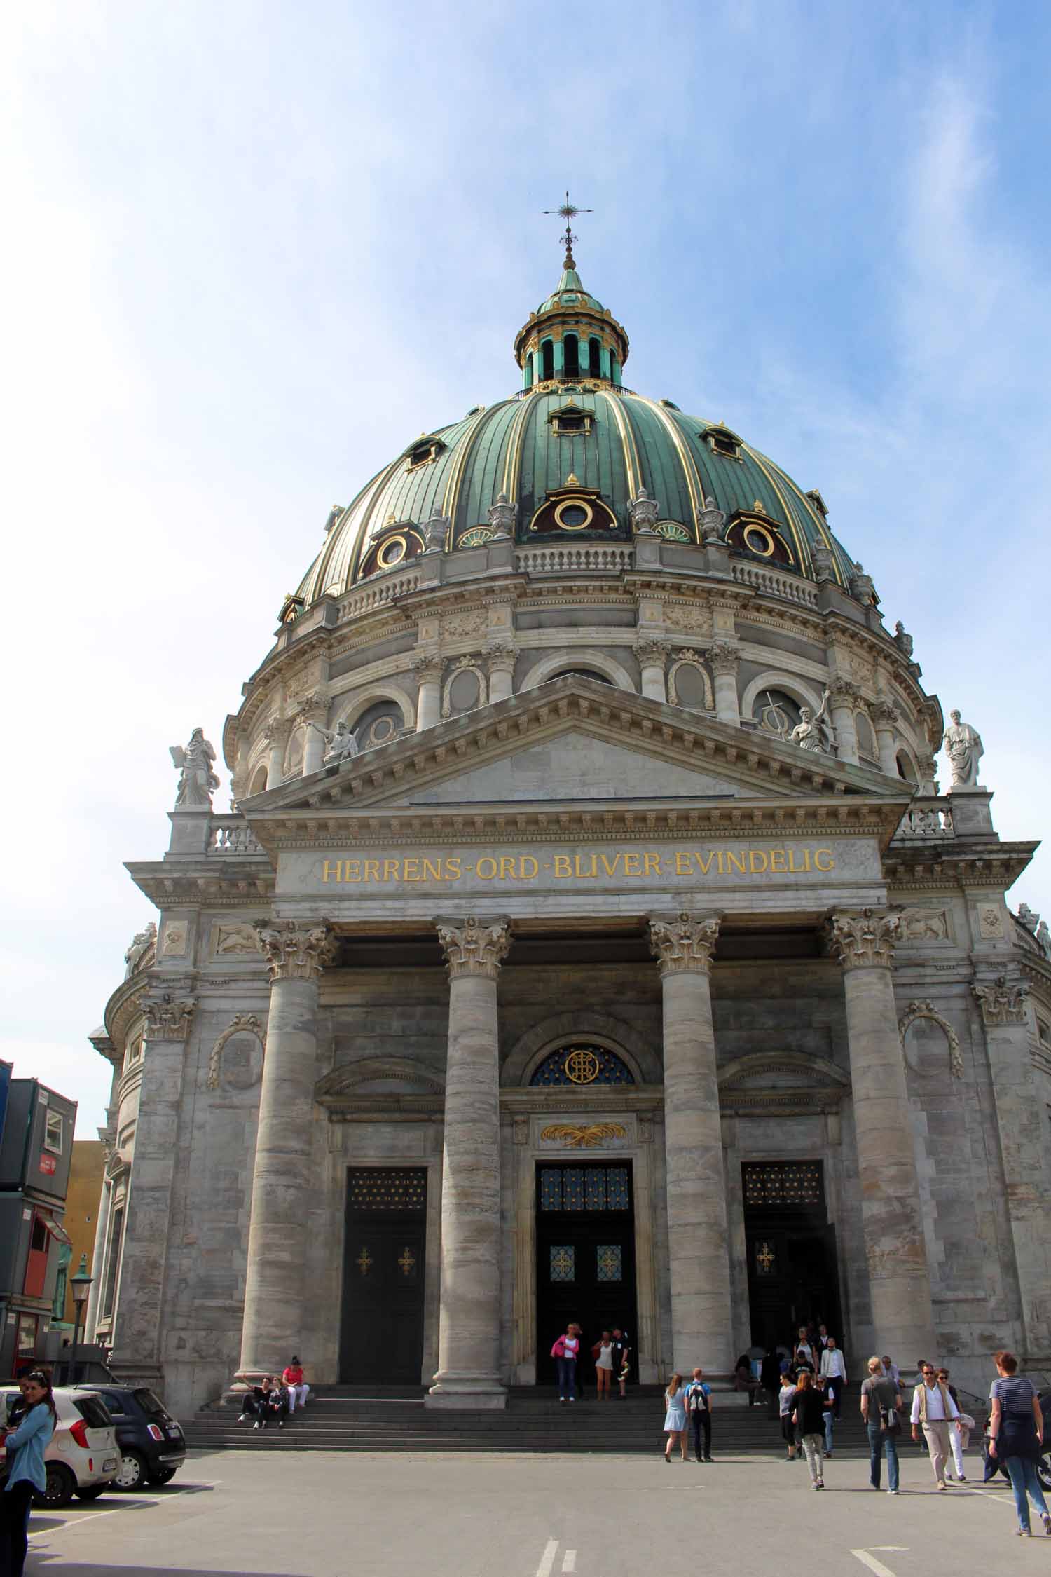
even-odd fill
[{"label": "green copper dome with gilded ribs and its topping lantern", "polygon": [[[296,604],[339,596],[441,541],[452,554],[477,547],[504,500],[512,514],[498,511],[496,525],[511,525],[522,546],[630,539],[629,505],[640,489],[657,501],[655,530],[674,542],[700,546],[715,524],[734,555],[816,580],[818,549],[835,580],[849,583],[851,557],[830,535],[818,492],[804,492],[723,423],[619,385],[627,334],[585,292],[572,254],[566,262],[558,289],[515,337],[526,388],[422,434],[348,508],[332,511]],[[537,375],[540,345],[559,334],[569,344],[558,369]]]}]

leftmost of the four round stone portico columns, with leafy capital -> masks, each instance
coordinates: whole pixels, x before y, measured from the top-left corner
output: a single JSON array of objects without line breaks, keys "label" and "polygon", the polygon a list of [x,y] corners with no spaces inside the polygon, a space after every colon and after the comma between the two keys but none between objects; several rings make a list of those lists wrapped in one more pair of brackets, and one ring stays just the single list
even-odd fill
[{"label": "leftmost of the four round stone portico columns, with leafy capital", "polygon": [[328,924],[282,919],[257,930],[271,987],[236,1375],[247,1385],[303,1350],[318,979],[336,954]]}]

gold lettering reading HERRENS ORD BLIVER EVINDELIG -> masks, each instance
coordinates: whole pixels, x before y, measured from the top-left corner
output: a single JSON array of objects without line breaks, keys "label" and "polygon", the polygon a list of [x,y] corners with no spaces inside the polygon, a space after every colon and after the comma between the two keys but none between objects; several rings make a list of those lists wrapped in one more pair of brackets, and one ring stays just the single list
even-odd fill
[{"label": "gold lettering reading HERRENS ORD BLIVER EVINDELIG", "polygon": [[619,877],[638,880],[646,877],[763,877],[805,875],[810,871],[835,871],[832,848],[799,848],[794,844],[778,848],[678,848],[663,853],[660,848],[630,848],[618,853],[551,853],[548,859],[536,855],[479,855],[470,861],[465,855],[397,855],[384,859],[323,859],[321,882],[362,886],[402,886],[413,882],[476,882],[518,883],[550,878],[555,882],[600,882]]}]

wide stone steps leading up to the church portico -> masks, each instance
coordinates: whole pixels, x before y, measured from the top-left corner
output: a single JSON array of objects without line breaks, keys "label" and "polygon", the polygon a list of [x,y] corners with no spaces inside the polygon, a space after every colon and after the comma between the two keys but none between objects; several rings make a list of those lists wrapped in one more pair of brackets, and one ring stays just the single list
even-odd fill
[{"label": "wide stone steps leading up to the church portico", "polygon": [[[547,1388],[518,1386],[503,1411],[459,1413],[424,1407],[424,1386],[318,1386],[306,1410],[252,1429],[236,1407],[216,1404],[184,1424],[194,1451],[607,1451],[652,1454],[663,1443],[660,1386],[630,1386],[626,1400],[597,1402],[594,1392],[559,1405]],[[857,1397],[835,1429],[837,1456],[868,1456]],[[715,1392],[712,1456],[783,1456],[778,1419],[744,1396]]]}]

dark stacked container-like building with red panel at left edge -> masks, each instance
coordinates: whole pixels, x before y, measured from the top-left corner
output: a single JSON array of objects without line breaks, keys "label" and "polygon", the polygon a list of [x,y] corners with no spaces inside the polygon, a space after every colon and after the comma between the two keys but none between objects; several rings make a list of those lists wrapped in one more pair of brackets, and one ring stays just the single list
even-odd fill
[{"label": "dark stacked container-like building with red panel at left edge", "polygon": [[77,1102],[36,1079],[6,1077],[0,1132],[0,1375],[44,1356],[69,1260],[63,1225]]}]

